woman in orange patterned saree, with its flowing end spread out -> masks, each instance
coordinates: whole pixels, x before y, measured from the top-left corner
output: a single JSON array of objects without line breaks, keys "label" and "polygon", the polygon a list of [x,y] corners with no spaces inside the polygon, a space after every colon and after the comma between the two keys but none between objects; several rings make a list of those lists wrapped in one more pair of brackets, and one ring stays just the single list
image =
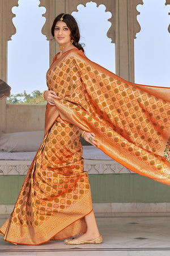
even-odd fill
[{"label": "woman in orange patterned saree, with its flowing end spread out", "polygon": [[11,217],[6,241],[101,243],[83,172],[79,135],[126,167],[169,185],[169,89],[127,82],[84,56],[75,19],[60,14],[52,35],[61,52],[46,75],[45,137]]}]

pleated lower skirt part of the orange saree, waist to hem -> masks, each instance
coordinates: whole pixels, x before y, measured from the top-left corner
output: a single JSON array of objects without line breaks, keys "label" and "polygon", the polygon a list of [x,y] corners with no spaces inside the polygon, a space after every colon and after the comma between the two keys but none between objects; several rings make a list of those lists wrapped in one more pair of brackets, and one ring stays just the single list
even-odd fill
[{"label": "pleated lower skirt part of the orange saree, waist to hem", "polygon": [[79,128],[58,117],[28,170],[1,233],[4,240],[24,245],[62,240],[86,232],[84,216],[91,210]]}]

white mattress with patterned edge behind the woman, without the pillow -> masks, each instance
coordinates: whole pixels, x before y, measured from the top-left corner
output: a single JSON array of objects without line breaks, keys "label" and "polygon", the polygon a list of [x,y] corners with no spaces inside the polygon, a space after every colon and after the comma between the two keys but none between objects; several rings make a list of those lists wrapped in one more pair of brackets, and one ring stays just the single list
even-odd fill
[{"label": "white mattress with patterned edge behind the woman, without the pillow", "polygon": [[[33,152],[0,152],[0,175],[26,175],[36,155]],[[131,174],[99,148],[83,146],[84,171],[88,174]]]}]

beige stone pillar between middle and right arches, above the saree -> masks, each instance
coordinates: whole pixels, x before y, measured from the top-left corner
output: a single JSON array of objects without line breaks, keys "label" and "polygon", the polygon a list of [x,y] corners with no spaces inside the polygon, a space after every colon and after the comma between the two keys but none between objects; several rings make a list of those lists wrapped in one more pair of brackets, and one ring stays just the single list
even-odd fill
[{"label": "beige stone pillar between middle and right arches, above the saree", "polygon": [[134,38],[141,27],[137,21],[137,5],[142,0],[116,1],[116,73],[134,82]]}]

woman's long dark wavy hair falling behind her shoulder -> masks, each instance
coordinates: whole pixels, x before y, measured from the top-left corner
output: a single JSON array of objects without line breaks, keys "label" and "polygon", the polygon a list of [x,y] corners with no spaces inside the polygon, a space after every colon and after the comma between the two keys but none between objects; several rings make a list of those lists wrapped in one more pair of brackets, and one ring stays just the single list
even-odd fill
[{"label": "woman's long dark wavy hair falling behind her shoulder", "polygon": [[54,37],[54,29],[56,27],[56,23],[60,21],[61,17],[63,18],[62,21],[66,23],[67,27],[71,31],[70,38],[71,40],[73,40],[73,46],[75,46],[78,49],[82,49],[82,51],[84,52],[83,47],[81,46],[81,44],[79,44],[80,32],[79,32],[78,24],[76,23],[76,20],[74,19],[74,17],[70,14],[61,13],[56,17],[56,19],[54,19],[53,25],[51,28],[53,37]]}]

